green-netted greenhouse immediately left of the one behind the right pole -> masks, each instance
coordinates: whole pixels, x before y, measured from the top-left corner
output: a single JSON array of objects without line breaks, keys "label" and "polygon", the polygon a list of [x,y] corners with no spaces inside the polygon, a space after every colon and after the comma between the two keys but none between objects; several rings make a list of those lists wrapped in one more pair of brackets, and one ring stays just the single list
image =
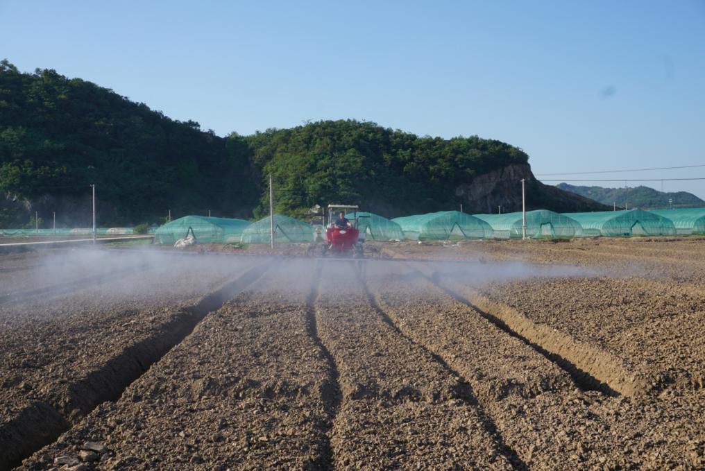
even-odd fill
[{"label": "green-netted greenhouse immediately left of the one behind the right pole", "polygon": [[485,221],[459,211],[441,211],[392,219],[401,226],[407,239],[491,238],[492,228]]}]

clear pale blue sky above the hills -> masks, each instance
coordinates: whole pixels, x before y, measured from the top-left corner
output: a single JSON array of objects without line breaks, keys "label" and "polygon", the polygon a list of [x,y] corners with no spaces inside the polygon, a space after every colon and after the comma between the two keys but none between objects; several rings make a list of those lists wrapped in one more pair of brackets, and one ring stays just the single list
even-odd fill
[{"label": "clear pale blue sky above the hills", "polygon": [[[705,165],[705,0],[0,0],[0,25],[21,71],[219,135],[356,118],[503,140],[541,179]],[[705,166],[562,179],[688,177]]]}]

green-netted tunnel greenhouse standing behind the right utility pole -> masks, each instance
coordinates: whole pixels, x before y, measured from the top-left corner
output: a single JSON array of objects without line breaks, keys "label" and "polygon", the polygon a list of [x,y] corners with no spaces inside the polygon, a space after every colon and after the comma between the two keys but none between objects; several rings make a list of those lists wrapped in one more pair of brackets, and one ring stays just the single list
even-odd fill
[{"label": "green-netted tunnel greenhouse standing behind the right utility pole", "polygon": [[[494,238],[522,238],[522,213],[475,214],[486,221],[494,231]],[[529,238],[568,238],[580,236],[580,224],[563,214],[546,209],[527,211],[527,237]]]}]

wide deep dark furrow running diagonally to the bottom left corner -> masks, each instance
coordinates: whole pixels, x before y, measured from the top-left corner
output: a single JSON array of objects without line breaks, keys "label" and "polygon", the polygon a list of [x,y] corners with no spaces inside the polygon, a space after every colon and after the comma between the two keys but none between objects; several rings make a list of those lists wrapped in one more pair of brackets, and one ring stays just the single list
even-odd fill
[{"label": "wide deep dark furrow running diagonally to the bottom left corner", "polygon": [[[29,411],[18,411],[13,420],[0,425],[0,449],[3,450],[0,470],[19,465],[24,458],[55,441],[71,424],[78,422],[97,405],[120,397],[149,366],[183,341],[209,312],[233,298],[235,293],[255,281],[265,270],[266,265],[254,267],[195,305],[174,312],[152,336],[127,346],[85,377],[54,389],[44,400],[30,404]],[[45,415],[47,418],[25,420],[23,417],[27,415]]]}]

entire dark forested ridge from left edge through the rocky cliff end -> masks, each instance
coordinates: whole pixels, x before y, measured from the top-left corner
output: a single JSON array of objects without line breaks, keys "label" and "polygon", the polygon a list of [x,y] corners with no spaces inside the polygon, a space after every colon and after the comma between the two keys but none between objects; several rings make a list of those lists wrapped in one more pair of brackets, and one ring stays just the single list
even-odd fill
[{"label": "entire dark forested ridge from left edge through the rocky cliff end", "polygon": [[[244,111],[243,111],[244,112]],[[174,121],[112,90],[53,70],[0,63],[0,227],[35,211],[59,226],[160,222],[171,214],[303,216],[314,204],[361,204],[388,216],[455,209],[562,211],[600,205],[535,181],[521,149],[477,136],[441,139],[358,121],[320,121],[250,136],[219,137]]]}]

